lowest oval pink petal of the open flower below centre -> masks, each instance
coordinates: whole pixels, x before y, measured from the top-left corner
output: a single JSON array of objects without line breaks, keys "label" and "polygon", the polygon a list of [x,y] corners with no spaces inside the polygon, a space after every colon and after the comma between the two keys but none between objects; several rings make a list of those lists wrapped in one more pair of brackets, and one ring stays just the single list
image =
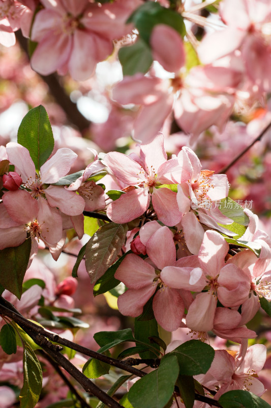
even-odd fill
[{"label": "lowest oval pink petal of the open flower below centre", "polygon": [[174,331],[182,323],[185,304],[176,290],[162,288],[155,294],[153,310],[158,324],[167,331]]}]

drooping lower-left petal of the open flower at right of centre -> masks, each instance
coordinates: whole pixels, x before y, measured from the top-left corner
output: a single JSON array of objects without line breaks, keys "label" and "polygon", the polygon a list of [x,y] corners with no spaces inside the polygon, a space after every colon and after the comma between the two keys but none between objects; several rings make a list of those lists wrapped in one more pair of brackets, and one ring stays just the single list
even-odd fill
[{"label": "drooping lower-left petal of the open flower at right of centre", "polygon": [[209,331],[214,327],[217,299],[210,292],[199,293],[191,304],[186,324],[195,331]]}]

